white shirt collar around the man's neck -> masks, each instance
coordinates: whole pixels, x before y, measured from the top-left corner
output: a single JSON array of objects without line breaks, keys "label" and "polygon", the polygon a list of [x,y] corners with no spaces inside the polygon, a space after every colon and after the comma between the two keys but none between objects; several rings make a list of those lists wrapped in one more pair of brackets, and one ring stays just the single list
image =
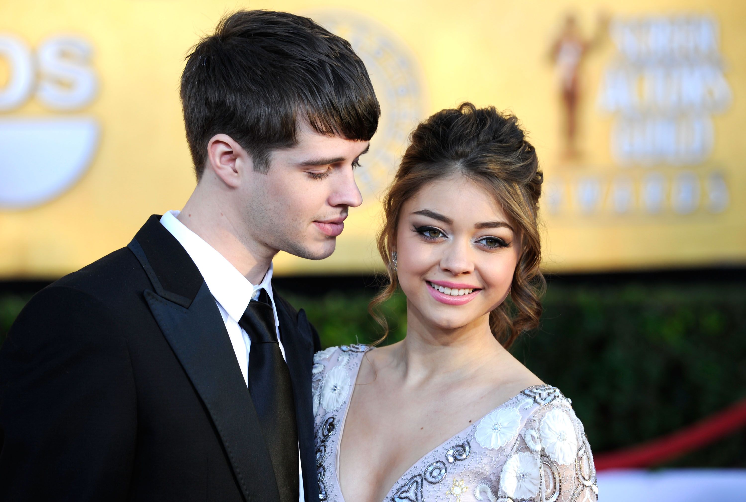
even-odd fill
[{"label": "white shirt collar around the man's neck", "polygon": [[213,246],[207,244],[204,239],[176,219],[178,214],[179,211],[169,211],[161,217],[160,223],[184,247],[204,277],[204,282],[207,283],[207,288],[210,289],[213,298],[225,309],[228,316],[238,322],[248,307],[248,302],[252,298],[256,299],[260,289],[264,288],[272,303],[275,326],[279,326],[275,298],[272,295],[272,263],[269,264],[269,270],[264,274],[262,282],[254,286]]}]

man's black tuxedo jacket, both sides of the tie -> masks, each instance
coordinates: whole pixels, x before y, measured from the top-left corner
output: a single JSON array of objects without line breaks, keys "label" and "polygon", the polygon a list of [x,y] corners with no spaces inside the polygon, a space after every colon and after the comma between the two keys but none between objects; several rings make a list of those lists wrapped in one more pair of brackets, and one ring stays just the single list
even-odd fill
[{"label": "man's black tuxedo jacket, both sides of the tie", "polygon": [[[310,502],[319,337],[275,305]],[[1,501],[279,501],[218,307],[158,216],[22,310],[0,351],[0,446]]]}]

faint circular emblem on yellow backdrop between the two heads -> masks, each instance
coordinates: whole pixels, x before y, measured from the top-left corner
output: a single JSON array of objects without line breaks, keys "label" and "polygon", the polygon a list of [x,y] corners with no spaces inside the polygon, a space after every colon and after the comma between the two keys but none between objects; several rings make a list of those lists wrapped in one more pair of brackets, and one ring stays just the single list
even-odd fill
[{"label": "faint circular emblem on yellow backdrop between the two heads", "polygon": [[339,9],[314,10],[308,16],[348,40],[368,69],[381,115],[357,181],[362,192],[377,194],[391,182],[410,131],[427,109],[419,64],[407,45],[374,19]]}]

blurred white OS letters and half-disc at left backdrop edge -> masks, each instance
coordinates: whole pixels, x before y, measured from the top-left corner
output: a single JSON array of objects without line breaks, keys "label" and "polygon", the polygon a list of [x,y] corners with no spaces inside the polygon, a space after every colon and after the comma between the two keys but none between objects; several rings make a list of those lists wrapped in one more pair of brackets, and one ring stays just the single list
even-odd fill
[{"label": "blurred white OS letters and half-disc at left backdrop edge", "polygon": [[[0,75],[0,207],[43,204],[90,165],[98,121],[70,112],[86,107],[98,92],[92,56],[90,43],[78,36],[49,37],[34,54],[19,37],[0,34],[0,60],[8,69],[7,78]],[[13,113],[31,98],[54,114]]]}]

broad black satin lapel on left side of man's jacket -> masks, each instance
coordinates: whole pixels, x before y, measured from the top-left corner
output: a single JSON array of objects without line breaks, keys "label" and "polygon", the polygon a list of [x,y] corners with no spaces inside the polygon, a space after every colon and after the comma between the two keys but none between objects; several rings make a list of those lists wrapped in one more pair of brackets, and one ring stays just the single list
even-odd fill
[{"label": "broad black satin lapel on left side of man's jacket", "polygon": [[202,283],[189,309],[149,289],[145,299],[210,412],[245,500],[279,501],[257,412],[207,284]]}]

